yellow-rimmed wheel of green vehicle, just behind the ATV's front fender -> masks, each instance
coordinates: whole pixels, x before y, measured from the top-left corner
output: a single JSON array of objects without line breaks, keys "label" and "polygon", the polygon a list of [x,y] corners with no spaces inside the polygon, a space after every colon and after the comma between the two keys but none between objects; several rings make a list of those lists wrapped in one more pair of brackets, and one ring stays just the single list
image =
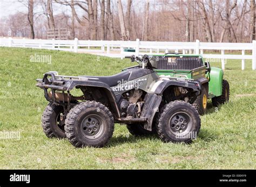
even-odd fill
[{"label": "yellow-rimmed wheel of green vehicle, just behind the ATV's front fender", "polygon": [[204,115],[207,111],[207,99],[208,99],[208,83],[203,84],[201,93],[197,96],[197,99],[192,104],[197,109],[200,115]]}]

